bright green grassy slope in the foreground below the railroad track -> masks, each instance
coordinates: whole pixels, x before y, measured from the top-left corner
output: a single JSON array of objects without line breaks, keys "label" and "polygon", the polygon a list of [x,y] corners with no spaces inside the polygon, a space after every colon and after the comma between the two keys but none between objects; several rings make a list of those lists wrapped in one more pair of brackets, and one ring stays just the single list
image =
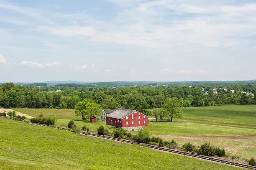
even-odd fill
[{"label": "bright green grassy slope in the foreground below the railroad track", "polygon": [[0,169],[239,169],[10,119],[0,129]]}]

